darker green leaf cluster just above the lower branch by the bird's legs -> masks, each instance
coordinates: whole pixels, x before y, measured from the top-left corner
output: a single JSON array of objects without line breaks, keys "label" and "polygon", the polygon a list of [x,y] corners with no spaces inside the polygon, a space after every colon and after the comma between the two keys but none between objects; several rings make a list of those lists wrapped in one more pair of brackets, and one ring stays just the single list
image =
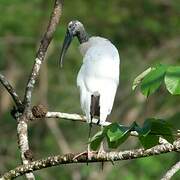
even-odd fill
[{"label": "darker green leaf cluster just above the lower branch by the bird's legs", "polygon": [[127,140],[133,131],[138,133],[136,136],[145,149],[157,145],[159,143],[159,137],[163,137],[169,143],[173,143],[175,138],[172,127],[167,121],[151,118],[146,119],[142,127],[136,122],[133,122],[129,127],[112,123],[91,138],[91,148],[97,150],[105,137],[109,148],[117,148]]}]

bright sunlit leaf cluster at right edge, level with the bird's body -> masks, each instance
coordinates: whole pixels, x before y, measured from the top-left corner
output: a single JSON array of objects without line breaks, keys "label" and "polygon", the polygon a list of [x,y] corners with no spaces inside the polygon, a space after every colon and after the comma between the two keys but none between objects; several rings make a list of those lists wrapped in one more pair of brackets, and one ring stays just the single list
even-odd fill
[{"label": "bright sunlit leaf cluster at right edge, level with the bird's body", "polygon": [[158,64],[149,68],[147,73],[140,74],[137,79],[140,80],[133,82],[133,89],[140,84],[141,92],[146,97],[153,94],[163,82],[172,95],[180,94],[180,66]]}]

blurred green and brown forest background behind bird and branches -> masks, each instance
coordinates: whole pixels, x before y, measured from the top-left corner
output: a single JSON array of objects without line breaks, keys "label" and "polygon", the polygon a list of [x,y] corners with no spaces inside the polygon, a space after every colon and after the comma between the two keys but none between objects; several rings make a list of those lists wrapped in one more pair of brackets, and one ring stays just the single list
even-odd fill
[{"label": "blurred green and brown forest background behind bird and branches", "polygon": [[[0,0],[0,73],[23,97],[36,50],[53,6],[51,0]],[[104,36],[118,48],[121,57],[120,86],[109,120],[142,124],[147,117],[169,119],[180,127],[180,97],[164,88],[145,99],[132,92],[133,79],[156,63],[180,64],[179,0],[76,0],[64,1],[63,15],[48,49],[33,92],[33,105],[42,103],[50,111],[80,113],[77,72],[82,63],[74,40],[63,69],[57,67],[60,48],[70,20],[82,21],[90,35]],[[13,102],[0,86],[0,174],[21,163],[16,122],[10,116]],[[94,128],[96,131],[96,128]],[[79,152],[87,148],[88,126],[63,119],[29,123],[30,148],[35,159],[53,154]],[[140,147],[130,138],[119,149]],[[61,180],[151,180],[160,179],[178,160],[178,153],[116,162],[115,166],[73,164],[35,172],[37,179]],[[20,177],[19,179],[24,179]],[[173,179],[180,179],[178,172]]]}]

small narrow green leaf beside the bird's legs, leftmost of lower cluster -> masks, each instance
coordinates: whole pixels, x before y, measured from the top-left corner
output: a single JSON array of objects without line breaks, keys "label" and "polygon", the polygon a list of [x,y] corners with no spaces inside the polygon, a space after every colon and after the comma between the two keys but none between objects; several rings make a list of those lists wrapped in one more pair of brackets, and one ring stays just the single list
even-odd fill
[{"label": "small narrow green leaf beside the bird's legs, leftmost of lower cluster", "polygon": [[90,140],[90,147],[92,150],[97,150],[98,147],[100,146],[103,138],[104,138],[104,133],[103,131],[97,132]]}]

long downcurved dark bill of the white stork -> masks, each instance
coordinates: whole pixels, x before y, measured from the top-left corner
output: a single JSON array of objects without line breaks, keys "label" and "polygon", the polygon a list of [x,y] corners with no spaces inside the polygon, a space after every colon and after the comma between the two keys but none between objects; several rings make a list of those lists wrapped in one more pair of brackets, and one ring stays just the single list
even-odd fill
[{"label": "long downcurved dark bill of the white stork", "polygon": [[66,36],[64,38],[63,46],[60,53],[60,59],[59,59],[59,66],[63,66],[63,59],[66,54],[66,51],[68,50],[69,45],[71,44],[71,41],[73,39],[73,35],[67,30]]}]

